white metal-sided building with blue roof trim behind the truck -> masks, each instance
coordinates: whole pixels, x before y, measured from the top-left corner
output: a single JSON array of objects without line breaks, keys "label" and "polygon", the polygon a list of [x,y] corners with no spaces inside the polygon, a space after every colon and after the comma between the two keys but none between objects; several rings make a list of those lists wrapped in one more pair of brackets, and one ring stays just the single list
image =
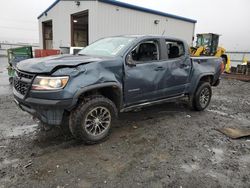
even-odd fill
[{"label": "white metal-sided building with blue roof trim behind the truck", "polygon": [[86,46],[102,37],[128,34],[167,35],[191,44],[196,23],[114,0],[57,0],[38,19],[43,49]]}]

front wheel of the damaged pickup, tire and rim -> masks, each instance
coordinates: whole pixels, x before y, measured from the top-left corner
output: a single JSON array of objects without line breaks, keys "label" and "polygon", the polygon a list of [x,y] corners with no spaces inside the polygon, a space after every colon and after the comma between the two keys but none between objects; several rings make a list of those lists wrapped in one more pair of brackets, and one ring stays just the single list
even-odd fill
[{"label": "front wheel of the damaged pickup, tire and rim", "polygon": [[117,114],[114,103],[102,96],[92,96],[71,112],[69,128],[77,140],[86,144],[104,141]]}]

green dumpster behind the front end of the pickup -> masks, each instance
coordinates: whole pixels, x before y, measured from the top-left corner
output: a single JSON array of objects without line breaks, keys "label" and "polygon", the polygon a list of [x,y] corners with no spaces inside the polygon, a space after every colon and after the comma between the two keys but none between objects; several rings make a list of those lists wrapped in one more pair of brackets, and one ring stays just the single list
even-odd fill
[{"label": "green dumpster behind the front end of the pickup", "polygon": [[32,47],[26,46],[26,47],[19,47],[19,48],[11,48],[8,50],[8,75],[9,75],[9,81],[12,84],[13,77],[15,74],[15,67],[18,62],[33,58],[32,53]]}]

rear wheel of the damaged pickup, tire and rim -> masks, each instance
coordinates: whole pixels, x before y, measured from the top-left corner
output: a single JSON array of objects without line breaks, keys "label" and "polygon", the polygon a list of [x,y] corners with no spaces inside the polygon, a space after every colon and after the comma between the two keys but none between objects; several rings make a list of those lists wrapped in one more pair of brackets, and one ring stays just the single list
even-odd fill
[{"label": "rear wheel of the damaged pickup, tire and rim", "polygon": [[201,82],[194,94],[192,107],[197,111],[206,109],[211,101],[212,88],[208,82]]}]

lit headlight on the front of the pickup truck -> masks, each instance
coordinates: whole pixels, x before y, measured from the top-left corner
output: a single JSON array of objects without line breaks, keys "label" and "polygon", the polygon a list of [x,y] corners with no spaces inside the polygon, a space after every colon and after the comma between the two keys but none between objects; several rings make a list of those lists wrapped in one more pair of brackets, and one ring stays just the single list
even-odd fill
[{"label": "lit headlight on the front of the pickup truck", "polygon": [[68,76],[45,77],[37,76],[32,84],[32,90],[57,90],[63,89],[68,83]]}]

